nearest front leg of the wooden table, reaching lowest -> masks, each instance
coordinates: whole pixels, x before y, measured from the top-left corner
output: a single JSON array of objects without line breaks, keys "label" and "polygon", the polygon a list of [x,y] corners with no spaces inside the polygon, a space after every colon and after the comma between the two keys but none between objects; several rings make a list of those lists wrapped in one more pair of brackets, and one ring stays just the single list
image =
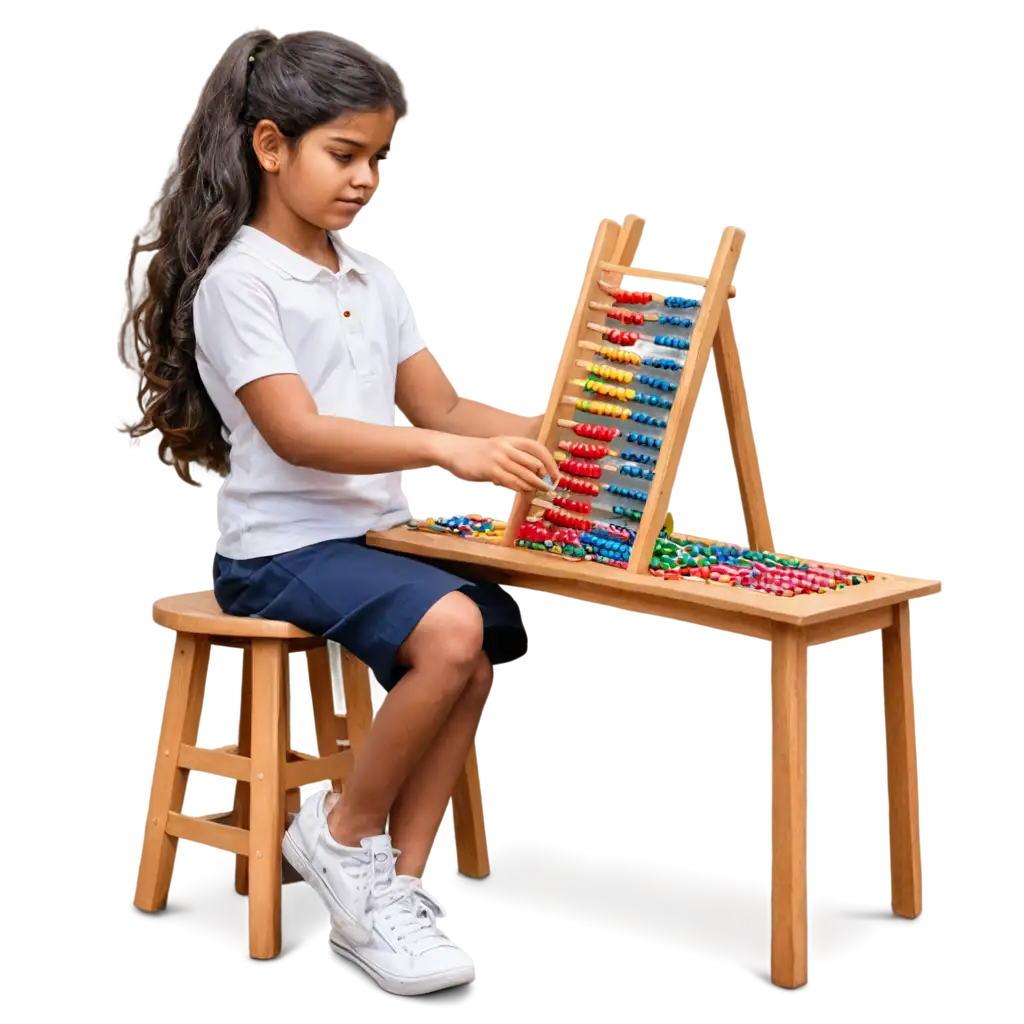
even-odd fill
[{"label": "nearest front leg of the wooden table, reaching lowest", "polygon": [[804,666],[807,641],[794,627],[772,635],[768,670],[768,861],[771,980],[807,984],[804,874]]}]

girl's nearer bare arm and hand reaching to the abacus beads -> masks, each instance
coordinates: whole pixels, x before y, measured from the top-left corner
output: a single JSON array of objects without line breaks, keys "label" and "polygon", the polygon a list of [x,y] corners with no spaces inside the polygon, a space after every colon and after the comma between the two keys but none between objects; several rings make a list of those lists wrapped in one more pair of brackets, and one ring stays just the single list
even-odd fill
[{"label": "girl's nearer bare arm and hand reaching to the abacus beads", "polygon": [[347,475],[440,467],[515,490],[543,489],[543,473],[556,471],[550,454],[529,439],[484,440],[322,416],[296,374],[261,377],[238,397],[271,451],[293,466]]}]

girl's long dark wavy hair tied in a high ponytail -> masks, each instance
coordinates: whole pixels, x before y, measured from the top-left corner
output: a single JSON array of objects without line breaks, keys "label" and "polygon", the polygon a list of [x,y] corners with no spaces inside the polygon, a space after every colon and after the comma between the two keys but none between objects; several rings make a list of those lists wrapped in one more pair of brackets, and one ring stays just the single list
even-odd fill
[{"label": "girl's long dark wavy hair tied in a high ponytail", "polygon": [[142,378],[136,437],[159,432],[162,460],[193,478],[193,468],[227,468],[223,424],[196,366],[193,300],[203,275],[259,201],[261,169],[252,133],[272,121],[294,145],[310,129],[348,113],[406,113],[395,72],[352,43],[325,33],[241,39],[217,66],[185,133],[157,238],[132,253],[129,276],[145,254],[145,294],[131,317]]}]

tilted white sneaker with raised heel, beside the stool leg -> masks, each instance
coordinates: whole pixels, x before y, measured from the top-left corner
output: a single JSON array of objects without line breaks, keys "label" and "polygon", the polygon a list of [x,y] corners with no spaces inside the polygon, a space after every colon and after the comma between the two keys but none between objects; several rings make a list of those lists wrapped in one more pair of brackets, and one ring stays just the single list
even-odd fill
[{"label": "tilted white sneaker with raised heel, beside the stool leg", "polygon": [[375,836],[362,840],[358,848],[341,846],[328,828],[324,811],[327,796],[324,790],[306,794],[285,833],[282,851],[306,885],[319,894],[332,925],[352,942],[368,942],[373,931],[370,896],[374,855],[387,851],[387,859],[393,863],[391,841],[387,836]]}]

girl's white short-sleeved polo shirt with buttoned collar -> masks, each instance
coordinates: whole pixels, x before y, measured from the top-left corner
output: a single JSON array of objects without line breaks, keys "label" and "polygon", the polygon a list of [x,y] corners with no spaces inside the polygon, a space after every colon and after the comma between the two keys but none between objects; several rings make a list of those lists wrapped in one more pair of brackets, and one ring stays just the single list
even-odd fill
[{"label": "girl's white short-sleeved polo shirt with buttoned collar", "polygon": [[224,421],[216,550],[256,558],[412,518],[403,473],[300,469],[263,440],[236,393],[298,374],[322,416],[394,426],[398,365],[426,346],[398,269],[332,234],[334,273],[254,227],[214,260],[193,305],[200,378]]}]

